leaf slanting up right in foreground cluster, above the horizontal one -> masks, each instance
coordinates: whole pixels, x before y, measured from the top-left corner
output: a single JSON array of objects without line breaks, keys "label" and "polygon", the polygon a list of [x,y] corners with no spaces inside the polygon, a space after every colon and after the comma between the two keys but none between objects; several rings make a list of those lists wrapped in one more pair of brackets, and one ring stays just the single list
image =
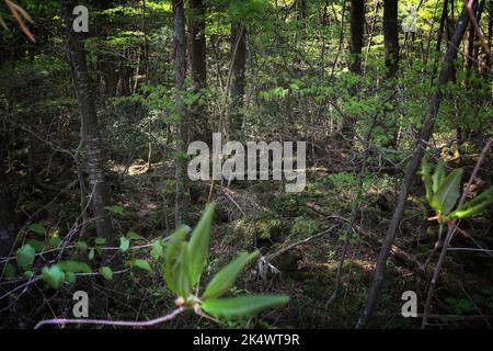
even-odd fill
[{"label": "leaf slanting up right in foreground cluster, above the horizontal one", "polygon": [[253,251],[252,253],[242,252],[222,270],[220,270],[209,282],[202,299],[217,298],[222,293],[228,291],[236,282],[238,274],[243,270],[243,268],[252,262],[257,256],[259,251]]}]

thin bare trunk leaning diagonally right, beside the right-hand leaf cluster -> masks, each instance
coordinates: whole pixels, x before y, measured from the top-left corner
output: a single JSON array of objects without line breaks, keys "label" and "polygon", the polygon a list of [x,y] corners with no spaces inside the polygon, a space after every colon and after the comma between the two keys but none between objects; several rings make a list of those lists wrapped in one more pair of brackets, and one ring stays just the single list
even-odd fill
[{"label": "thin bare trunk leaning diagonally right, beside the right-hand leaf cluster", "polygon": [[456,26],[455,33],[450,39],[450,44],[448,45],[447,54],[445,55],[444,64],[442,66],[440,75],[438,77],[437,89],[432,95],[432,99],[429,101],[429,110],[425,123],[423,125],[423,128],[420,133],[413,156],[408,166],[404,180],[402,182],[401,192],[399,193],[398,203],[395,205],[395,210],[393,211],[390,226],[387,229],[382,248],[378,256],[377,267],[375,268],[374,281],[371,283],[371,287],[368,293],[367,304],[362,315],[359,316],[359,320],[357,321],[356,328],[364,328],[366,326],[366,324],[368,322],[368,318],[375,308],[378,294],[380,293],[380,288],[383,283],[387,258],[389,257],[390,248],[395,239],[397,229],[399,227],[402,214],[404,212],[408,194],[411,190],[411,185],[414,181],[416,171],[420,168],[421,160],[423,158],[425,148],[428,144],[429,137],[432,136],[435,117],[438,114],[438,109],[443,98],[443,88],[450,79],[450,72],[454,67],[454,60],[457,57],[457,47],[459,47],[460,45],[462,36],[468,26],[468,23],[469,23],[468,14],[465,10],[462,10],[462,14]]}]

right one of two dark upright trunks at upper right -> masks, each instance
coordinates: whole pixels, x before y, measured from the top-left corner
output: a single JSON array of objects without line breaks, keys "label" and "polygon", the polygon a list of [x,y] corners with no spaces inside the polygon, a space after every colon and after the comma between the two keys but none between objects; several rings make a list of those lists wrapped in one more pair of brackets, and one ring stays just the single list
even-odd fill
[{"label": "right one of two dark upright trunks at upper right", "polygon": [[398,0],[383,0],[383,44],[387,77],[390,78],[399,69]]}]

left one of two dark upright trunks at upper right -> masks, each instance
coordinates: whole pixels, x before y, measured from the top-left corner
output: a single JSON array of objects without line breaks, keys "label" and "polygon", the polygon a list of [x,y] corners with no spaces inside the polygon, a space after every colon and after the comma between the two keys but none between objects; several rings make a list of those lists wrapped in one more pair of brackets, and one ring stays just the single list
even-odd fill
[{"label": "left one of two dark upright trunks at upper right", "polygon": [[365,23],[365,1],[351,0],[349,70],[362,73],[362,48]]}]

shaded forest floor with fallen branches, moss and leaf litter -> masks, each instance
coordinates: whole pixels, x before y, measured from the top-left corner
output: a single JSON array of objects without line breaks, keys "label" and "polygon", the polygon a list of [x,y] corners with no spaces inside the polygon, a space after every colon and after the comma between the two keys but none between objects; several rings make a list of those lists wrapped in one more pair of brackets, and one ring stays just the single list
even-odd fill
[{"label": "shaded forest floor with fallen branches, moss and leaf litter", "polygon": [[[290,296],[288,305],[267,312],[248,326],[255,328],[353,328],[365,306],[372,269],[380,240],[391,217],[400,186],[399,171],[383,172],[377,168],[363,177],[360,214],[349,226],[353,204],[358,194],[358,173],[344,167],[344,160],[331,159],[331,165],[317,165],[307,173],[307,186],[301,193],[286,193],[278,181],[233,182],[215,185],[217,203],[209,263],[204,281],[234,257],[239,251],[261,250],[261,258],[251,270],[242,274],[232,294],[283,293]],[[337,162],[339,161],[339,162]],[[358,165],[355,162],[355,165]],[[131,166],[128,172],[113,167],[113,202],[124,208],[114,220],[115,229],[125,234],[138,233],[145,239],[172,233],[173,194],[170,186],[174,178],[165,163]],[[358,169],[355,167],[355,169]],[[383,169],[383,168],[381,168]],[[380,170],[381,170],[380,169]],[[115,176],[116,174],[116,176]],[[59,181],[51,178],[51,182]],[[191,183],[191,224],[194,225],[207,202],[209,183]],[[437,259],[432,257],[428,267],[423,263],[433,252],[437,239],[437,225],[427,220],[423,190],[416,184],[401,223],[392,256],[388,260],[382,293],[369,327],[419,328],[421,318],[404,318],[401,314],[402,293],[413,291],[419,298],[419,313],[423,310],[424,294],[429,272]],[[157,191],[160,190],[160,191]],[[54,190],[44,190],[42,197],[50,197]],[[69,200],[53,202],[43,212],[47,218],[70,218],[77,211],[77,190],[65,194]],[[31,197],[33,199],[33,197]],[[44,199],[43,201],[45,201]],[[38,199],[41,201],[41,199]],[[31,204],[34,206],[34,204]],[[65,214],[65,215],[64,215]],[[46,223],[45,223],[46,224]],[[51,226],[60,226],[53,223]],[[485,219],[463,222],[462,228],[485,247],[488,242]],[[329,230],[326,230],[329,229]],[[322,234],[326,231],[325,234]],[[345,240],[347,252],[341,271],[337,296],[329,303],[334,292],[337,269]],[[457,245],[470,245],[458,237]],[[144,252],[144,254],[148,254]],[[146,258],[146,257],[144,257]],[[151,260],[150,260],[151,261]],[[451,251],[445,264],[434,301],[432,325],[436,327],[491,327],[493,324],[493,272],[489,269],[491,257],[463,251]],[[264,263],[262,267],[260,263]],[[134,270],[123,274],[122,285],[110,288],[102,282],[81,279],[73,288],[88,285],[98,294],[113,296],[112,306],[95,307],[91,315],[111,319],[146,319],[160,316],[174,308],[174,296],[167,291],[159,267],[152,274]],[[204,284],[204,283],[203,283]],[[37,306],[36,295],[25,296],[20,309],[30,310],[31,320],[53,318],[68,313],[71,298],[56,294],[44,298]],[[42,293],[43,294],[43,293]],[[36,308],[34,308],[36,306]],[[64,307],[65,306],[65,307]],[[216,322],[202,318],[197,324],[194,314],[184,315],[164,327],[217,328]],[[228,324],[242,327],[244,324]]]}]

